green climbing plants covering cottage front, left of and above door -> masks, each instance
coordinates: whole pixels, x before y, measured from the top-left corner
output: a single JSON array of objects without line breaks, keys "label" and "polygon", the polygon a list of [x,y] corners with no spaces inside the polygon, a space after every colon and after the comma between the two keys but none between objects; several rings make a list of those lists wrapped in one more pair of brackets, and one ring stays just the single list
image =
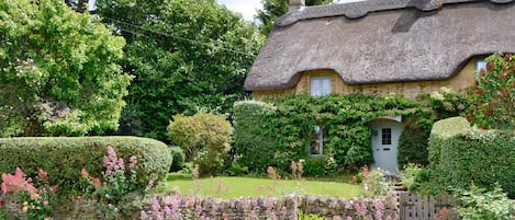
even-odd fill
[{"label": "green climbing plants covering cottage front, left of and above door", "polygon": [[401,115],[417,121],[421,116],[430,114],[419,102],[400,96],[298,95],[267,102],[245,101],[234,107],[237,160],[257,173],[262,173],[268,165],[279,173],[288,173],[288,161],[316,162],[307,158],[315,125],[328,129],[321,159],[325,171],[306,167],[306,174],[357,171],[372,162],[372,132],[367,118]]}]

